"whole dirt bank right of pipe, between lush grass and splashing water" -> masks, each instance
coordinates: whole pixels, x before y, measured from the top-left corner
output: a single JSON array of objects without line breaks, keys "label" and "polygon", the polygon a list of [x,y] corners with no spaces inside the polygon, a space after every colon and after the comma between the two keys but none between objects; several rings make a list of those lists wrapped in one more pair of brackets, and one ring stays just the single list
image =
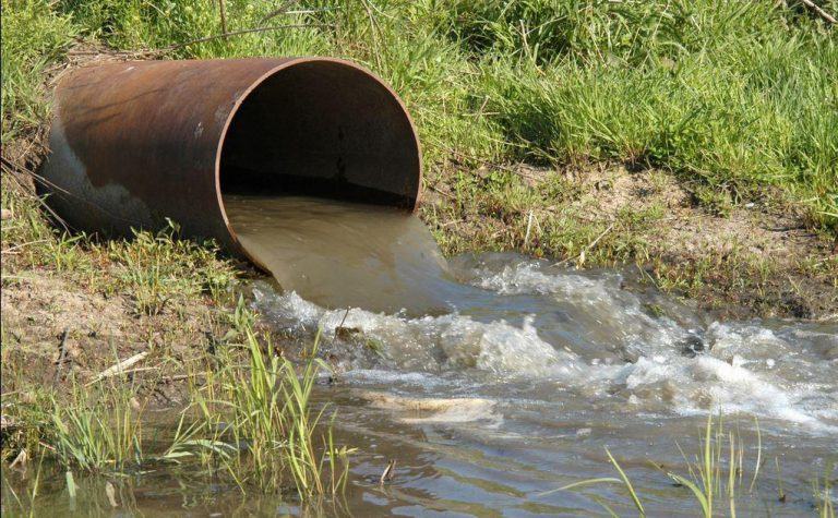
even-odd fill
[{"label": "whole dirt bank right of pipe, between lush grass and splashing water", "polygon": [[456,161],[427,185],[421,214],[447,254],[626,267],[721,318],[838,318],[838,242],[779,191],[742,202],[655,169]]}]

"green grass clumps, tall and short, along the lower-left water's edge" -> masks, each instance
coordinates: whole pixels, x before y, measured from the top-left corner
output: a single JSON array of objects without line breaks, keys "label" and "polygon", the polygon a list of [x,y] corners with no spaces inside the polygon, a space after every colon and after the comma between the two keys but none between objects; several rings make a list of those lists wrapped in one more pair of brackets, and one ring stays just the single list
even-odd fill
[{"label": "green grass clumps, tall and short, along the lower-left water's edge", "polygon": [[76,477],[177,463],[228,477],[243,494],[292,494],[307,502],[339,496],[352,449],[335,443],[324,409],[311,405],[325,366],[312,349],[298,370],[256,337],[251,321],[239,318],[237,335],[220,350],[190,363],[190,402],[177,425],[149,421],[146,412],[159,374],[136,383],[128,373],[73,377],[4,396],[4,417],[22,434],[15,439],[4,432],[4,451],[25,449],[31,459],[45,457]]}]

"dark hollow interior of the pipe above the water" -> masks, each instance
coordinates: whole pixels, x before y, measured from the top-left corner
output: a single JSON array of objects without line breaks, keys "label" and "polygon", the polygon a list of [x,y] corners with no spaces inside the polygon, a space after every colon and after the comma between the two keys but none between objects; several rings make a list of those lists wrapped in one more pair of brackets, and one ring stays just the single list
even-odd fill
[{"label": "dark hollow interior of the pipe above the water", "polygon": [[304,61],[241,104],[222,147],[220,186],[412,209],[419,160],[410,120],[384,85],[347,64]]}]

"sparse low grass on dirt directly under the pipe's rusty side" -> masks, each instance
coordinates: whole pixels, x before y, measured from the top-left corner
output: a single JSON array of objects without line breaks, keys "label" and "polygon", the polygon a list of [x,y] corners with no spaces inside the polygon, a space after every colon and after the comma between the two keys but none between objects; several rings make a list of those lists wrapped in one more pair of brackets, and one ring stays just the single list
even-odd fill
[{"label": "sparse low grass on dirt directly under the pipe's rusty side", "polygon": [[182,311],[188,301],[204,296],[220,305],[235,301],[234,263],[222,258],[212,241],[181,239],[172,221],[156,232],[135,230],[131,239],[71,234],[51,227],[39,198],[5,173],[2,204],[14,215],[2,226],[4,279],[50,272],[106,297],[124,293],[139,315]]}]

